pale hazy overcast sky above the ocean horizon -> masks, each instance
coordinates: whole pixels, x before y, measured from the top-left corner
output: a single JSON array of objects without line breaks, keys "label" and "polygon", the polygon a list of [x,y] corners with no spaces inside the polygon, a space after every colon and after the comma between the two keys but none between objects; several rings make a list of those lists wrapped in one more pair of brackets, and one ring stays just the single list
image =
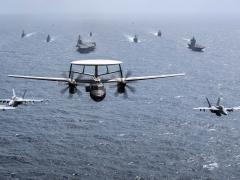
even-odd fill
[{"label": "pale hazy overcast sky above the ocean horizon", "polygon": [[0,0],[2,14],[240,15],[240,0]]}]

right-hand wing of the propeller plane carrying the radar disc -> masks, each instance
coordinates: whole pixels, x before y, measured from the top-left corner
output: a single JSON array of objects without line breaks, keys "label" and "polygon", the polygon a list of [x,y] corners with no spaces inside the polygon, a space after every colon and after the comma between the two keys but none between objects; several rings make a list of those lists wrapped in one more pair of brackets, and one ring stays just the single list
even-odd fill
[{"label": "right-hand wing of the propeller plane carrying the radar disc", "polygon": [[[185,76],[185,74],[184,73],[181,73],[181,74],[164,74],[164,75],[156,75],[156,76],[127,77],[127,78],[123,78],[123,79],[124,79],[124,81],[140,81],[140,80],[168,78],[168,77],[176,77],[176,76]],[[119,82],[119,81],[121,81],[121,78],[110,79],[106,82],[111,83],[111,82]]]}]

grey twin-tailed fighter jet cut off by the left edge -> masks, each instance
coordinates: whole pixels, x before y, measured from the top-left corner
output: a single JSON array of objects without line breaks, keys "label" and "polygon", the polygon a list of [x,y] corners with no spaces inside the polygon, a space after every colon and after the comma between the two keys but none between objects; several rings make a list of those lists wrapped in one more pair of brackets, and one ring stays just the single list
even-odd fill
[{"label": "grey twin-tailed fighter jet cut off by the left edge", "polygon": [[39,100],[38,99],[25,99],[24,97],[25,97],[27,91],[24,91],[22,97],[17,97],[14,89],[12,89],[12,91],[13,91],[13,96],[11,97],[11,99],[0,99],[0,102],[7,103],[8,106],[12,106],[12,107],[17,107],[20,104],[43,102],[43,99],[39,99]]}]

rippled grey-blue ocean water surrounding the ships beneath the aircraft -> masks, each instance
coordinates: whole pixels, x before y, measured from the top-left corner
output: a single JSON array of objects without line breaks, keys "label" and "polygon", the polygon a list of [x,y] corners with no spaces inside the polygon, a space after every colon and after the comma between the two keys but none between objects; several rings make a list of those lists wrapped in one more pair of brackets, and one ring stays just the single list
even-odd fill
[{"label": "rippled grey-blue ocean water surrounding the ships beneath the aircraft", "polygon": [[[49,100],[0,112],[0,179],[240,179],[240,112],[192,109],[206,106],[205,97],[240,105],[239,23],[2,16],[0,27],[0,98],[15,88]],[[79,54],[78,34],[96,41],[96,51]],[[134,34],[140,43],[129,41]],[[186,48],[193,35],[205,52]],[[138,82],[128,99],[107,87],[100,103],[83,87],[69,99],[58,83],[7,77],[58,77],[71,61],[92,58],[121,60],[135,76],[186,77]]]}]

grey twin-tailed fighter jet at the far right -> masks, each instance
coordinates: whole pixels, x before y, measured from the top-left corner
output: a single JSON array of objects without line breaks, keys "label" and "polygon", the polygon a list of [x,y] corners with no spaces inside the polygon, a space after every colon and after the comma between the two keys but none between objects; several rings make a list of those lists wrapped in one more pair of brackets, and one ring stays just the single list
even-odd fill
[{"label": "grey twin-tailed fighter jet at the far right", "polygon": [[206,98],[206,100],[208,102],[208,107],[197,107],[197,108],[193,108],[193,109],[197,109],[197,110],[204,111],[204,112],[206,110],[209,110],[211,113],[214,113],[217,116],[228,115],[228,112],[232,112],[232,111],[235,111],[235,110],[240,110],[240,106],[232,107],[232,108],[225,108],[224,106],[220,105],[220,101],[221,101],[220,98],[218,98],[216,106],[211,105],[208,98]]}]

